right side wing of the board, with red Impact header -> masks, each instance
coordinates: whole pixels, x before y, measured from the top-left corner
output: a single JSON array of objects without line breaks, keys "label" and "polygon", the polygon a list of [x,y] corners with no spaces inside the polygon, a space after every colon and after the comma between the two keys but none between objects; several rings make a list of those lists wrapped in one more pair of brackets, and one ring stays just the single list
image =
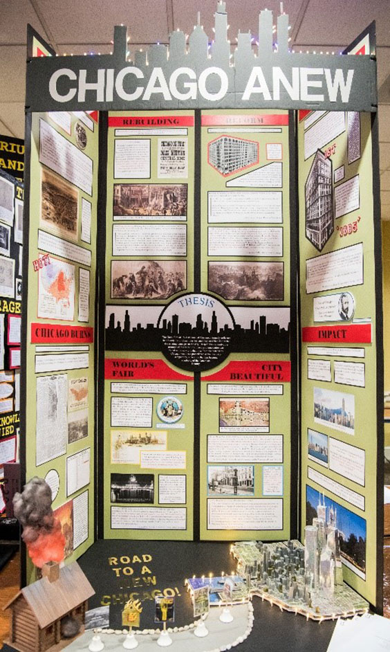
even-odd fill
[{"label": "right side wing of the board, with red Impact header", "polygon": [[382,514],[371,115],[300,118],[301,532],[324,493],[344,579],[374,604]]}]

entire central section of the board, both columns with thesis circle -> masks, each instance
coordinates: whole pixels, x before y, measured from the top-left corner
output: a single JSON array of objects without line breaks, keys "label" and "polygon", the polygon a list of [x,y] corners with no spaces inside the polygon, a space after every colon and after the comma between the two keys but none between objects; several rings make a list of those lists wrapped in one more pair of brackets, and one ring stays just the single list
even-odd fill
[{"label": "entire central section of the board, both columns with thesis circle", "polygon": [[290,536],[288,125],[109,114],[104,536]]}]

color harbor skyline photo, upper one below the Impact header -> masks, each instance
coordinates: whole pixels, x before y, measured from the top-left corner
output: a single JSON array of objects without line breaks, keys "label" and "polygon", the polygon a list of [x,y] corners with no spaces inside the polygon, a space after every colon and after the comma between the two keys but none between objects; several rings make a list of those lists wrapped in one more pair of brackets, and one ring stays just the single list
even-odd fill
[{"label": "color harbor skyline photo, upper one below the Impact header", "polygon": [[355,434],[355,397],[344,392],[314,388],[314,420],[329,428]]}]

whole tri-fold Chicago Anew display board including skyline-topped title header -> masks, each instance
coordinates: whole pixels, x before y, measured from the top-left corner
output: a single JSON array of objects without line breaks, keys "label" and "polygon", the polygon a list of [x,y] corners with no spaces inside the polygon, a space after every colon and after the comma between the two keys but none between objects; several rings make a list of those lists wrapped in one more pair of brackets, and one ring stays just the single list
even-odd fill
[{"label": "whole tri-fold Chicago Anew display board including skyline-topped title header", "polygon": [[112,56],[28,64],[26,478],[73,559],[95,536],[302,538],[325,501],[379,608],[372,30],[361,57],[298,55],[283,15],[274,53],[264,11],[233,66],[215,18],[210,55],[198,25],[127,62],[115,28]]}]

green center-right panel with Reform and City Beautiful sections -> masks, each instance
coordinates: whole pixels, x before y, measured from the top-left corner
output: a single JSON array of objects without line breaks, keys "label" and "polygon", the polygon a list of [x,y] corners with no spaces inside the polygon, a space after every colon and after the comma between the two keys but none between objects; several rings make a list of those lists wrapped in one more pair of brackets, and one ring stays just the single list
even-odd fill
[{"label": "green center-right panel with Reform and City Beautiful sections", "polygon": [[289,538],[288,111],[203,111],[201,125],[201,287],[234,320],[201,382],[201,538]]}]

